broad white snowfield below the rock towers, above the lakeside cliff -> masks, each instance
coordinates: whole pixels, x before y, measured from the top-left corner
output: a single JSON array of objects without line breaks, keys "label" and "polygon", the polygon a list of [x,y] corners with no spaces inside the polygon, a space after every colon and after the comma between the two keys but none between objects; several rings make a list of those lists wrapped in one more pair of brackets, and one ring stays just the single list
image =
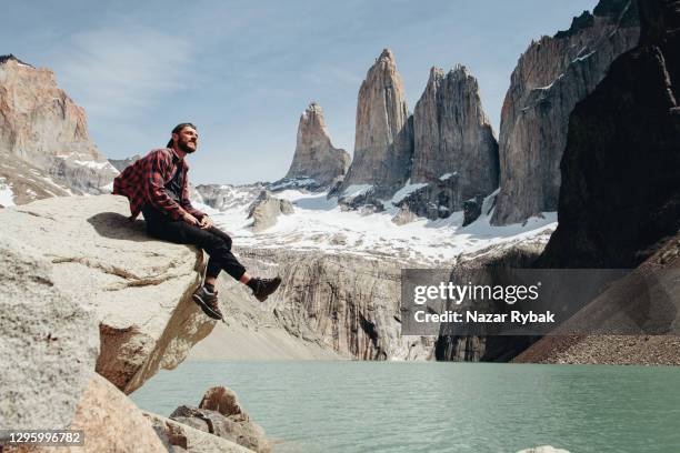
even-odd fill
[{"label": "broad white snowfield below the rock towers, above the lakeside cliff", "polygon": [[[413,184],[414,185],[414,184]],[[328,199],[327,192],[306,193],[284,190],[276,198],[288,200],[296,207],[294,213],[281,215],[277,224],[254,233],[248,229],[248,205],[257,193],[248,188],[230,188],[237,203],[217,211],[196,203],[210,214],[214,222],[229,232],[236,245],[258,249],[289,249],[322,251],[329,254],[354,254],[368,259],[393,258],[402,262],[448,265],[461,253],[474,253],[491,245],[507,245],[518,240],[536,236],[548,239],[557,226],[557,214],[544,213],[523,224],[493,226],[490,224],[494,192],[484,199],[482,214],[467,226],[462,226],[462,211],[447,219],[430,221],[417,219],[397,225],[393,212],[364,214],[361,211],[343,210],[337,198]],[[351,194],[363,194],[370,185],[349,188]],[[342,241],[338,241],[342,238]]]}]

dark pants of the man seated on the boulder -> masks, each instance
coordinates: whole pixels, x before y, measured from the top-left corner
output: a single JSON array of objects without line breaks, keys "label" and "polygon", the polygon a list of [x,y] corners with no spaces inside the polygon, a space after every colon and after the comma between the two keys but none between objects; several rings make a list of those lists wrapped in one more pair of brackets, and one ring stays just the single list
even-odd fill
[{"label": "dark pants of the man seated on the boulder", "polygon": [[199,246],[210,255],[206,276],[218,276],[221,270],[239,280],[246,268],[231,253],[231,238],[220,229],[202,229],[182,220],[172,220],[154,209],[143,208],[149,235],[177,244]]}]

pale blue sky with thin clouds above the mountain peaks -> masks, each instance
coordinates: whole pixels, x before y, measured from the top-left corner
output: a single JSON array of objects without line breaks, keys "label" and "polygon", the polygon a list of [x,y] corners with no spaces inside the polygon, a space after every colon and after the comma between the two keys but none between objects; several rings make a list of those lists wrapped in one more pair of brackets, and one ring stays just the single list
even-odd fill
[{"label": "pale blue sky with thin clouds above the mountain peaks", "polygon": [[11,2],[1,53],[52,69],[84,107],[110,158],[163,145],[192,121],[201,143],[194,183],[281,178],[300,113],[319,102],[333,141],[350,153],[357,93],[386,47],[409,109],[432,66],[466,64],[498,134],[519,56],[566,29],[597,0]]}]

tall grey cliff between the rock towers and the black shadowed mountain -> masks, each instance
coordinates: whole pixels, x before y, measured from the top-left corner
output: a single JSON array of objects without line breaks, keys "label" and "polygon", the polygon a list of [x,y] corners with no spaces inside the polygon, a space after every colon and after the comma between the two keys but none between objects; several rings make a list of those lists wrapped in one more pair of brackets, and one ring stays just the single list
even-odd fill
[{"label": "tall grey cliff between the rock towers and the black shadowed mountain", "polygon": [[501,112],[493,224],[557,210],[569,114],[611,62],[638,43],[638,23],[634,0],[601,0],[592,14],[532,42],[520,57]]}]

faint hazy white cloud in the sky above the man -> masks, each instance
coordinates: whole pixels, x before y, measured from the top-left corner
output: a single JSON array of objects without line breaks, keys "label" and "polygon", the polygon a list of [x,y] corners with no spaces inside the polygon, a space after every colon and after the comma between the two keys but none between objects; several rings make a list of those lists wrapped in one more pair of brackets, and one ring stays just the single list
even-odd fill
[{"label": "faint hazy white cloud in the sky above the man", "polygon": [[137,26],[79,32],[60,53],[60,84],[99,119],[134,117],[182,88],[192,58],[187,41]]}]

